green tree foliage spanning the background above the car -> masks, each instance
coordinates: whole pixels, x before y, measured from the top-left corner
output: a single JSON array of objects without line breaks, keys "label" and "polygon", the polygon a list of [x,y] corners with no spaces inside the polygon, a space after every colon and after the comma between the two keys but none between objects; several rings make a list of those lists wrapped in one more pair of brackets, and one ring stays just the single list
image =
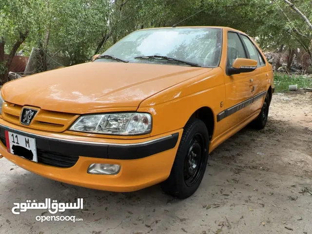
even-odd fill
[{"label": "green tree foliage spanning the background above the car", "polygon": [[[312,20],[311,0],[294,4]],[[264,50],[284,44],[308,51],[312,39],[306,22],[284,0],[0,0],[0,40],[7,54],[20,33],[29,31],[20,46],[25,55],[43,48],[68,64],[90,60],[134,30],[181,20],[178,26],[236,28]]]}]

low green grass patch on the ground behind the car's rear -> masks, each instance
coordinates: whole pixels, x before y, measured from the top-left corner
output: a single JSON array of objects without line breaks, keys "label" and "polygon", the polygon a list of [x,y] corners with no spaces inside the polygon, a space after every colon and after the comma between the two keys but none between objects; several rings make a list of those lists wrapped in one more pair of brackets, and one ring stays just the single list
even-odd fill
[{"label": "low green grass patch on the ground behind the car's rear", "polygon": [[274,73],[274,84],[276,92],[288,91],[289,85],[294,84],[297,84],[298,88],[312,88],[312,78]]}]

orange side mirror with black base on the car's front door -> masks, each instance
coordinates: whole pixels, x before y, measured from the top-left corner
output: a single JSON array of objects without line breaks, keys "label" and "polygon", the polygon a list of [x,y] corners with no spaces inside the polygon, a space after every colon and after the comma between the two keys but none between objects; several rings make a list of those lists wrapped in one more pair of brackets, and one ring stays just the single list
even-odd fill
[{"label": "orange side mirror with black base on the car's front door", "polygon": [[235,75],[244,72],[252,72],[257,68],[258,62],[254,59],[235,59],[232,67],[227,68],[227,75]]}]

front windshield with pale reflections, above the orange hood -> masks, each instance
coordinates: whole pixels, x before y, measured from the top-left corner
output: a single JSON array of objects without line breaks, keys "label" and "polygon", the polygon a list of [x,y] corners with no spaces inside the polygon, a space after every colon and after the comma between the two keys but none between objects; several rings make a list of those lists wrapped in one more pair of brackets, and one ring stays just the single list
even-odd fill
[{"label": "front windshield with pale reflections, above the orange hood", "polygon": [[[189,66],[187,63],[153,58],[165,56],[202,67],[217,67],[221,57],[222,31],[218,28],[157,28],[135,31],[105,51],[113,56],[136,63],[160,63]],[[149,57],[137,58],[136,57]],[[102,58],[99,61],[116,61]]]}]

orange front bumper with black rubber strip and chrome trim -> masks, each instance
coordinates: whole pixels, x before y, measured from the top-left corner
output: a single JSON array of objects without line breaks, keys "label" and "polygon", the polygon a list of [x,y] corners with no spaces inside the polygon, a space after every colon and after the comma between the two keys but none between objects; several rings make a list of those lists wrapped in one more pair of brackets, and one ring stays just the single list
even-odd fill
[{"label": "orange front bumper with black rubber strip and chrome trim", "polygon": [[[66,160],[66,155],[70,160],[71,157],[77,157],[74,165],[66,168],[36,163],[10,154],[2,141],[0,154],[11,162],[50,179],[114,192],[136,191],[168,178],[183,131],[180,129],[157,137],[136,140],[101,138],[99,141],[98,138],[95,140],[95,137],[70,138],[68,135],[64,137],[62,134],[49,133],[44,135],[42,131],[28,130],[10,123],[3,125],[3,122],[5,121],[0,121],[1,138],[7,129],[36,138],[37,152],[56,152],[56,157],[65,155],[62,160]],[[91,141],[92,139],[94,141]],[[92,163],[119,164],[121,169],[117,175],[91,175],[87,173],[87,169]]]}]

